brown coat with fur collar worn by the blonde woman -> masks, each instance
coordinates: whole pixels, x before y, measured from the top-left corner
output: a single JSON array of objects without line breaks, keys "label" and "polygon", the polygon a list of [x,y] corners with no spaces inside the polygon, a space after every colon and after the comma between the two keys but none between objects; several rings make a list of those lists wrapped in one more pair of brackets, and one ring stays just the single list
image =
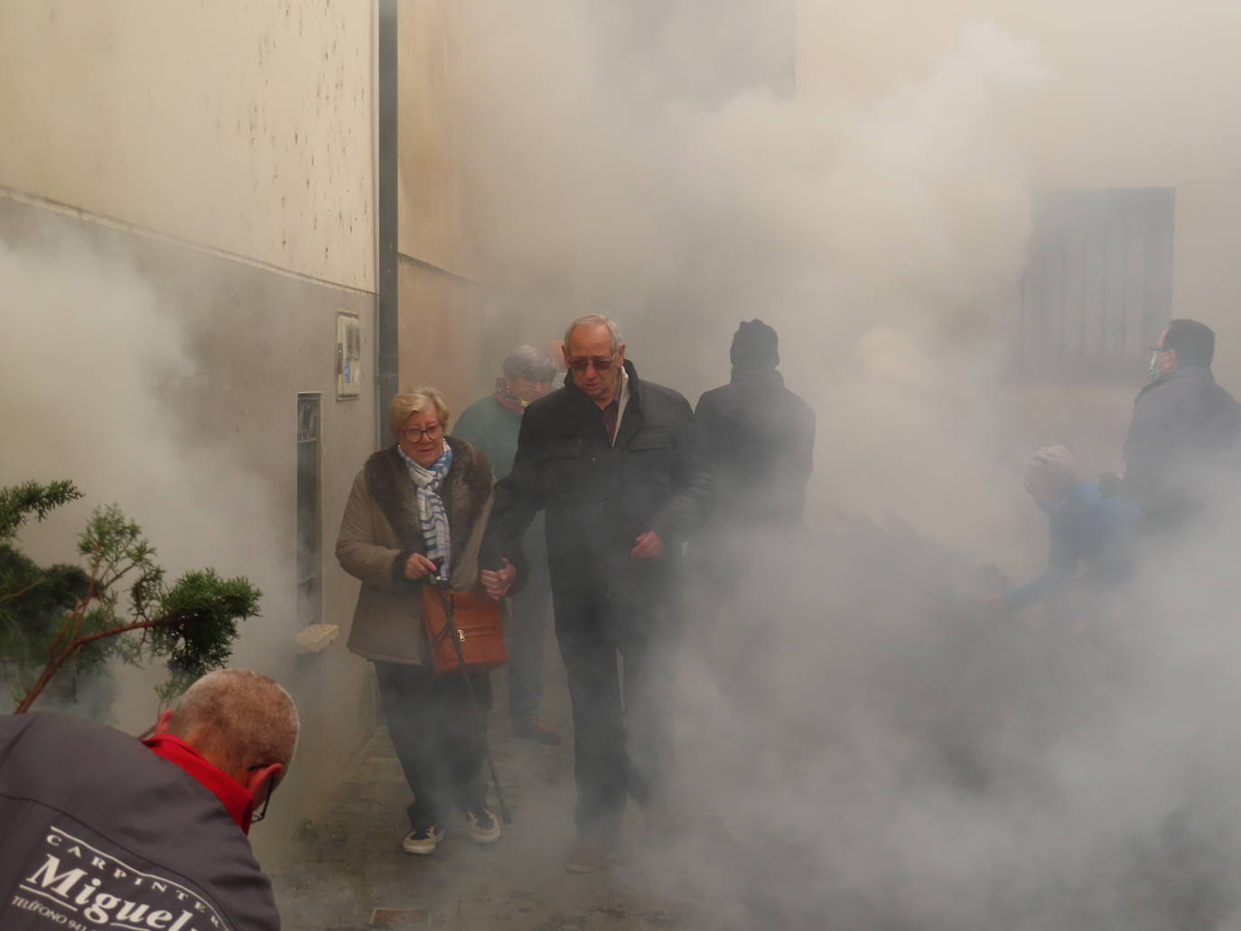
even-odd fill
[{"label": "brown coat with fur collar worn by the blonde woman", "polygon": [[[452,587],[478,583],[483,531],[491,513],[491,464],[464,439],[448,438],[453,466],[441,498],[452,536]],[[354,479],[336,537],[336,559],[362,581],[349,649],[386,663],[427,662],[423,581],[405,577],[411,554],[426,555],[413,479],[395,446],[366,461]]]}]

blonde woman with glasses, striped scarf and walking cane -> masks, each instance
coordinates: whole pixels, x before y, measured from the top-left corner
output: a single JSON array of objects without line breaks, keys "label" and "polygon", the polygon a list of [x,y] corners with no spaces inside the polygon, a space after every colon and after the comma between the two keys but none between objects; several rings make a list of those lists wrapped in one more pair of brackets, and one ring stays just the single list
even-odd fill
[{"label": "blonde woman with glasses, striped scarf and walking cane", "polygon": [[[448,407],[433,387],[393,397],[388,430],[396,442],[357,473],[336,537],[341,567],[362,582],[349,649],[375,663],[388,734],[413,793],[401,848],[433,853],[453,806],[470,838],[490,844],[500,822],[482,777],[484,722],[464,677],[434,674],[419,596],[437,572],[457,591],[478,583],[491,464],[464,439],[446,436]],[[488,674],[472,679],[475,699],[490,706]]]}]

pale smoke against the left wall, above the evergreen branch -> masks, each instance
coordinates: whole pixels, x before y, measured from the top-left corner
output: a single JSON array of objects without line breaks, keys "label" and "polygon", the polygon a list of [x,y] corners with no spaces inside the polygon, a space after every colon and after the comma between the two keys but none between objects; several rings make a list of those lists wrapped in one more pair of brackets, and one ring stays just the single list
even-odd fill
[{"label": "pale smoke against the left wall, above the evergreen branch", "polygon": [[[83,499],[27,526],[21,545],[41,562],[73,561],[91,510],[118,504],[156,547],[169,581],[208,566],[243,575],[264,592],[264,613],[279,617],[287,582],[278,560],[288,546],[272,489],[195,413],[195,394],[218,386],[195,361],[190,315],[169,307],[123,246],[57,217],[37,226],[0,241],[10,346],[0,484],[67,478]],[[240,658],[277,636],[261,626],[242,627]],[[160,678],[118,679],[113,714],[124,726],[154,716],[150,686]]]}]

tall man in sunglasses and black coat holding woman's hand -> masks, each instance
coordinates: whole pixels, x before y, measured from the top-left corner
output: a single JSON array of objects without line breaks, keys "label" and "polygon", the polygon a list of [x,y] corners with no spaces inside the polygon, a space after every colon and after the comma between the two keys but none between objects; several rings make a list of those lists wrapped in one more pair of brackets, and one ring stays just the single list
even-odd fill
[{"label": "tall man in sunglasses and black coat holding woman's hand", "polygon": [[689,403],[638,380],[614,323],[575,320],[565,362],[565,387],[526,408],[489,536],[513,559],[546,510],[576,740],[577,843],[566,868],[586,873],[607,858],[627,792],[660,817],[680,550],[710,510],[715,484]]}]

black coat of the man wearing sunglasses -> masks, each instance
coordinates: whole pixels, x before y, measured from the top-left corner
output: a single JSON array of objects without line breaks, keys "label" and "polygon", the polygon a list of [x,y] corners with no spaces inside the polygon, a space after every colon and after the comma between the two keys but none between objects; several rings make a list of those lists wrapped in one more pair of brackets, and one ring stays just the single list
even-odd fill
[{"label": "black coat of the man wearing sunglasses", "polygon": [[[715,499],[689,403],[671,389],[639,381],[609,441],[598,406],[573,382],[526,408],[513,472],[496,485],[488,537],[509,555],[535,514],[547,513],[547,562],[557,598],[652,605],[673,593],[680,547]],[[663,554],[634,560],[654,530]]]}]

